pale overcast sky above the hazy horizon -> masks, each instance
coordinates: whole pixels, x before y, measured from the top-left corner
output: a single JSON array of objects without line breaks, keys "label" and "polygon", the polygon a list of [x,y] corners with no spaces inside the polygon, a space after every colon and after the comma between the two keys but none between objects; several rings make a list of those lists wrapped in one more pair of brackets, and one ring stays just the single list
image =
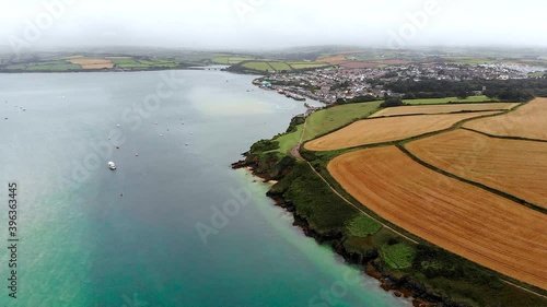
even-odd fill
[{"label": "pale overcast sky above the hazy horizon", "polygon": [[0,45],[547,46],[546,12],[540,0],[0,0]]}]

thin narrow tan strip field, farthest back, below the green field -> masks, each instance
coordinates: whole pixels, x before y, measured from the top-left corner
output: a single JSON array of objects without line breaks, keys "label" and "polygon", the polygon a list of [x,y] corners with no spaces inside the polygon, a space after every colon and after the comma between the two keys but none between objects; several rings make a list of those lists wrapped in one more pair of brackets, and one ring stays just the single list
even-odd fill
[{"label": "thin narrow tan strip field, farthest back, below the green field", "polygon": [[511,103],[489,103],[489,104],[457,104],[457,105],[422,105],[422,106],[403,106],[385,108],[370,118],[383,116],[400,116],[400,115],[416,115],[416,114],[447,114],[458,111],[480,111],[480,110],[508,110],[512,109],[519,104]]}]

